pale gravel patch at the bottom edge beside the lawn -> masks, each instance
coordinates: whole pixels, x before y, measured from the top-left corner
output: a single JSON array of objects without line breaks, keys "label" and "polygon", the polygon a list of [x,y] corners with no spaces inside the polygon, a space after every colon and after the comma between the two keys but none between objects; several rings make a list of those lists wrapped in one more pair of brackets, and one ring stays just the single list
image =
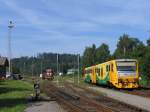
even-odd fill
[{"label": "pale gravel patch at the bottom edge beside the lawn", "polygon": [[25,112],[65,112],[55,101],[31,103]]}]

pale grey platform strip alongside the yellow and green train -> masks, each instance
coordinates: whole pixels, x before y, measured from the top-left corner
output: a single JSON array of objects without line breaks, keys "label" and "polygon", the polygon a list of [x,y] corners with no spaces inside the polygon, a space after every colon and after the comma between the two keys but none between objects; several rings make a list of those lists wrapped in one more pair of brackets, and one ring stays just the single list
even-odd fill
[{"label": "pale grey platform strip alongside the yellow and green train", "polygon": [[98,92],[103,92],[110,98],[150,111],[150,98],[121,93],[119,91],[101,87],[91,87],[90,89]]}]

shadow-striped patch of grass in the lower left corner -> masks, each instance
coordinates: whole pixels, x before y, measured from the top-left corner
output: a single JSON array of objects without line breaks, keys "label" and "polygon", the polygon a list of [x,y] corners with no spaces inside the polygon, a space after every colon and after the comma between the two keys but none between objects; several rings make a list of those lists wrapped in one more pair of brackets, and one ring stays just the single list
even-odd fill
[{"label": "shadow-striped patch of grass in the lower left corner", "polygon": [[0,82],[0,112],[3,112],[5,108],[8,110],[16,109],[16,107],[22,108],[28,103],[28,98],[25,96],[31,88],[20,84],[22,83]]}]

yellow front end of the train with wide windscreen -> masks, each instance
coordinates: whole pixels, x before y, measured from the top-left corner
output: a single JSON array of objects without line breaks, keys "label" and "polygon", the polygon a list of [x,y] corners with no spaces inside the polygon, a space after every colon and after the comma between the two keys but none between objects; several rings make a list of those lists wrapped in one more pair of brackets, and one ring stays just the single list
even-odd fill
[{"label": "yellow front end of the train with wide windscreen", "polygon": [[117,88],[138,88],[139,73],[138,62],[135,59],[116,60],[118,83]]}]

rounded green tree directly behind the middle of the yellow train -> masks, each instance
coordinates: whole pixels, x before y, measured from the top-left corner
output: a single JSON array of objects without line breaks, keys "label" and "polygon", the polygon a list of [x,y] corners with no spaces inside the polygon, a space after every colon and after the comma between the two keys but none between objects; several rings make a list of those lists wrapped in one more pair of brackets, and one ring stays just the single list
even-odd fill
[{"label": "rounded green tree directly behind the middle of the yellow train", "polygon": [[109,46],[103,43],[96,49],[96,63],[102,63],[110,59]]}]

